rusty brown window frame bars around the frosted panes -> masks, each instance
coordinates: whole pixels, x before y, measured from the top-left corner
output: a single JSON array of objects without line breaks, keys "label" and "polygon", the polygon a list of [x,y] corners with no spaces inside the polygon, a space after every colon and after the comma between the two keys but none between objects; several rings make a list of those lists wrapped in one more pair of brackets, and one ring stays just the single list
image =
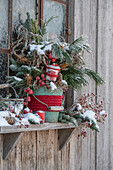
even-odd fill
[{"label": "rusty brown window frame bars around the frosted panes", "polygon": [[[61,4],[66,5],[66,18],[65,18],[65,39],[66,42],[68,42],[68,12],[69,12],[69,0],[52,0]],[[43,0],[37,0],[36,3],[36,18],[38,15],[38,24],[41,27],[42,23],[41,20],[43,20]],[[38,12],[37,12],[37,6],[38,6]],[[9,54],[12,51],[12,21],[13,21],[13,0],[8,1],[8,48],[0,48],[0,54]]]}]

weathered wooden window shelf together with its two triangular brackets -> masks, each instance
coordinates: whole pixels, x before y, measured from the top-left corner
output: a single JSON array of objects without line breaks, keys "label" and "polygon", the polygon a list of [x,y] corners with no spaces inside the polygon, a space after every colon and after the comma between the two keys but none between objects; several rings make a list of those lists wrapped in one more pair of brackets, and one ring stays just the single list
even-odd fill
[{"label": "weathered wooden window shelf together with its two triangular brackets", "polygon": [[75,126],[72,123],[44,123],[40,125],[30,125],[28,128],[24,126],[1,126],[0,134],[3,135],[3,159],[8,159],[10,153],[17,145],[24,132],[43,131],[58,129],[58,145],[59,150],[63,149],[74,132]]}]

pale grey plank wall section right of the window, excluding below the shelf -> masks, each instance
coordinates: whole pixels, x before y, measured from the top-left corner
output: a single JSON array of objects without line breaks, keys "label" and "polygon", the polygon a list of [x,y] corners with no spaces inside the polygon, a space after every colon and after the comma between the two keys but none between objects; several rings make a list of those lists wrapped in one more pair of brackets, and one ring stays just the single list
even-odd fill
[{"label": "pale grey plank wall section right of the window, excluding below the shelf", "polygon": [[95,84],[90,83],[88,89],[84,88],[82,93],[95,91],[97,95],[101,95],[108,113],[105,124],[100,125],[101,132],[97,134],[89,131],[88,138],[81,141],[79,157],[81,163],[78,169],[113,169],[112,17],[112,0],[75,0],[75,38],[81,34],[88,36],[88,42],[93,49],[93,58],[87,55],[85,61],[88,67],[98,71],[106,82],[98,88],[95,87]]}]

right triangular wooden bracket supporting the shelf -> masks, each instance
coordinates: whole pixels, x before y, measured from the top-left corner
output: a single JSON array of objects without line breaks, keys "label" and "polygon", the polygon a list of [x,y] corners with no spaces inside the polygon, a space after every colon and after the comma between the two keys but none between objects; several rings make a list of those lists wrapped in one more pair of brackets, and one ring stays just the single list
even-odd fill
[{"label": "right triangular wooden bracket supporting the shelf", "polygon": [[71,138],[71,135],[73,134],[74,130],[75,130],[74,128],[58,130],[59,150],[62,150],[64,148],[64,146]]}]

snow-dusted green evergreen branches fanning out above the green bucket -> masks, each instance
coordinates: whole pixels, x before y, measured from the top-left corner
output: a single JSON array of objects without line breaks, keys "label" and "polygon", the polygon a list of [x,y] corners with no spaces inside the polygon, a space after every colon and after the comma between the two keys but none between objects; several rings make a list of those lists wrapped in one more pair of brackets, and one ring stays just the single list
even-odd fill
[{"label": "snow-dusted green evergreen branches fanning out above the green bucket", "polygon": [[[43,56],[38,55],[36,54],[36,51],[31,52],[29,50],[29,43],[34,40],[34,43],[36,45],[39,45],[42,42],[44,44],[43,36],[46,34],[46,27],[48,26],[49,22],[54,18],[56,17],[52,16],[49,20],[45,20],[44,22],[42,21],[42,28],[40,28],[37,24],[37,21],[31,19],[30,14],[27,13],[27,19],[23,24],[26,29],[24,30],[24,32],[21,32],[22,30],[20,31],[20,33],[18,32],[18,37],[20,37],[20,40],[21,38],[25,40],[27,37],[27,41],[25,42],[25,44],[27,43],[27,45],[25,45],[26,48],[23,47],[23,50],[19,50],[21,51],[21,55],[24,55],[24,58],[27,58],[30,64],[24,63],[22,65],[22,63],[19,63],[11,58],[10,65],[10,69],[13,71],[14,75],[16,75],[18,78],[22,78],[23,82],[25,82],[26,74],[29,74],[30,76],[32,76],[33,85],[36,77],[40,76],[41,74],[41,71],[38,70],[36,67],[39,66],[39,68],[41,68],[42,66],[43,68],[46,61],[49,64],[52,64],[51,60],[49,61],[48,59],[48,53],[50,52],[49,50],[46,51],[45,55]],[[28,32],[26,30],[28,30]],[[21,37],[21,34],[25,35],[22,35]],[[84,37],[81,36],[71,44],[55,42],[50,42],[50,44],[52,45],[52,57],[56,58],[56,63],[61,68],[63,64],[66,64],[66,67],[62,68],[61,70],[63,79],[66,80],[68,85],[72,86],[75,90],[81,89],[82,86],[88,85],[87,76],[93,79],[97,83],[97,85],[104,82],[96,72],[85,68],[83,53],[84,51],[91,53],[91,49],[89,45],[85,42]],[[44,47],[46,45],[47,44],[45,44]],[[18,46],[18,48],[20,48],[20,46]],[[37,64],[36,62],[40,63]],[[32,63],[36,67],[32,67]],[[15,85],[15,82],[13,83],[13,80],[14,79],[11,79],[11,83]],[[17,86],[19,87],[19,83],[17,83]]]}]

